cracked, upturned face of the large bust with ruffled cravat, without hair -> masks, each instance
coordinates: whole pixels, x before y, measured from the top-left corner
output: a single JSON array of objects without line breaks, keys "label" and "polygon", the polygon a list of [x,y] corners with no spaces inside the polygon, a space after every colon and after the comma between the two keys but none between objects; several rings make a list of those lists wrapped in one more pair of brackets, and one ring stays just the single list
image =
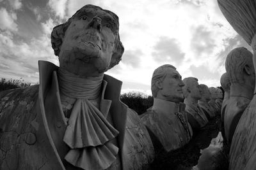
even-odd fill
[{"label": "cracked, upturned face of the large bust with ruffled cravat, without hair", "polygon": [[108,70],[118,25],[100,9],[81,11],[65,31],[60,67],[79,76],[95,76]]}]

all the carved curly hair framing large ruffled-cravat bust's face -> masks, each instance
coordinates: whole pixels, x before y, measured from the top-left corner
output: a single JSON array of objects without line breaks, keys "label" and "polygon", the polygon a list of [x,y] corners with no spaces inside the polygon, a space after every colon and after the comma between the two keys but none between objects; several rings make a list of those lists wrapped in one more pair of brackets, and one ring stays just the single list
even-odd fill
[{"label": "all the carved curly hair framing large ruffled-cravat bust's face", "polygon": [[85,6],[83,6],[80,10],[76,11],[76,13],[67,20],[67,22],[57,25],[56,27],[53,28],[52,33],[51,33],[51,43],[52,43],[52,48],[54,50],[54,54],[56,56],[59,56],[60,54],[60,49],[61,49],[61,45],[62,45],[62,41],[63,38],[65,36],[65,32],[67,31],[68,26],[70,25],[70,23],[76,19],[80,13],[82,13],[83,11],[86,10],[102,10],[107,12],[109,15],[111,15],[111,17],[114,18],[114,20],[116,21],[116,32],[114,32],[115,34],[115,48],[114,48],[114,52],[111,58],[111,63],[108,67],[108,69],[110,69],[111,67],[115,66],[116,64],[118,64],[120,62],[120,60],[122,59],[122,55],[124,53],[124,46],[122,45],[122,42],[120,41],[120,37],[119,37],[119,19],[118,16],[109,11],[109,10],[103,10],[102,8],[100,8],[99,6],[94,6],[92,4],[87,4]]}]

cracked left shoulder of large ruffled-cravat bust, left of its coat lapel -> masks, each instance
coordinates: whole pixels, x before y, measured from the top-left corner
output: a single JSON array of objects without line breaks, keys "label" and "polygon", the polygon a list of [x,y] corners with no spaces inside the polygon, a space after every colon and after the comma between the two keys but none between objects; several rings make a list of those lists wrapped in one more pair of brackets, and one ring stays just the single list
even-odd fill
[{"label": "cracked left shoulder of large ruffled-cravat bust, left of its coat lapel", "polygon": [[0,169],[61,169],[38,105],[39,85],[0,93]]}]

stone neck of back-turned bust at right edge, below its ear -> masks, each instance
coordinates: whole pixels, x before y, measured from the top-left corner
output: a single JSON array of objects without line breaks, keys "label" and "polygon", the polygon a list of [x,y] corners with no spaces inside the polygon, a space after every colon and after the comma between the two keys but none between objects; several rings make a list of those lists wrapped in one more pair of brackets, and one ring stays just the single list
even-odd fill
[{"label": "stone neck of back-turned bust at right edge, below its ear", "polygon": [[230,97],[245,97],[252,99],[253,89],[246,87],[246,85],[232,83],[230,85]]}]

